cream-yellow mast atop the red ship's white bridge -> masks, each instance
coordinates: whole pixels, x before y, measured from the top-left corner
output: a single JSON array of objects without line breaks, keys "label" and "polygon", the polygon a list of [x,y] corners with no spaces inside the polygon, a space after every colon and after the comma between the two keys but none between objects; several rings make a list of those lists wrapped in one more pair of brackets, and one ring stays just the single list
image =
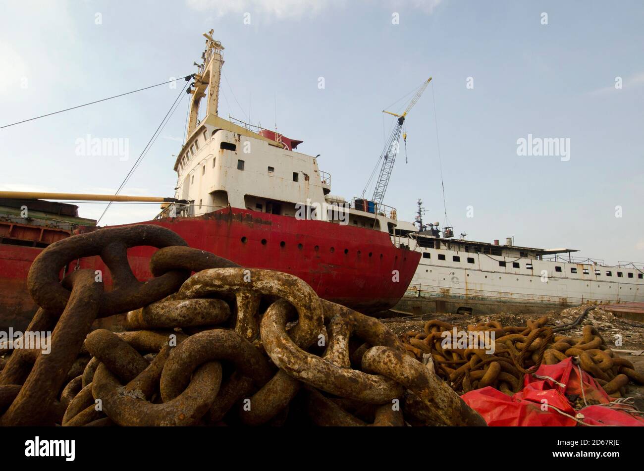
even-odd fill
[{"label": "cream-yellow mast atop the red ship's white bridge", "polygon": [[[197,127],[199,113],[199,104],[205,97],[205,90],[208,89],[208,100],[206,103],[206,115],[217,115],[217,106],[219,102],[219,84],[222,75],[223,46],[219,41],[213,39],[214,30],[204,33],[205,50],[202,53],[203,64],[195,64],[199,67],[199,72],[194,75],[192,88],[188,93],[193,95],[190,102],[190,116],[188,120],[187,136],[194,133]],[[186,138],[187,138],[186,136]]]}]

